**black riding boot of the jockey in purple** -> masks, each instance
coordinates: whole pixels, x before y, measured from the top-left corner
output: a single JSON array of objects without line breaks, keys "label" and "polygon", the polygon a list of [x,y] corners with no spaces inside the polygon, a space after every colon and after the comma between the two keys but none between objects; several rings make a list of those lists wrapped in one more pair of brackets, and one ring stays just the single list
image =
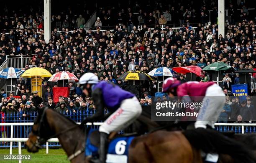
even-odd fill
[{"label": "black riding boot of the jockey in purple", "polygon": [[91,163],[105,163],[106,155],[108,152],[108,134],[105,132],[100,132],[100,149],[99,149],[99,158],[91,159]]}]

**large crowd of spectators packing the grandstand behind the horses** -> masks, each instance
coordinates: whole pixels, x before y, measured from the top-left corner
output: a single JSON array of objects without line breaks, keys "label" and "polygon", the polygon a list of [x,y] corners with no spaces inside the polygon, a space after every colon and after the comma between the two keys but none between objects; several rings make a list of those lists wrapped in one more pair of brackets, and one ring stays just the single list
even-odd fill
[{"label": "large crowd of spectators packing the grandstand behind the horses", "polygon": [[[129,85],[126,80],[118,80],[118,77],[127,71],[149,71],[158,67],[181,67],[195,65],[201,68],[215,63],[224,62],[234,69],[256,68],[256,29],[255,21],[250,19],[247,5],[228,4],[228,13],[231,14],[231,23],[226,25],[226,36],[218,33],[216,18],[216,3],[203,0],[202,6],[192,7],[189,4],[177,3],[177,5],[163,5],[162,3],[143,6],[139,3],[128,5],[125,8],[112,8],[105,10],[99,8],[99,14],[92,29],[85,31],[85,20],[82,15],[70,18],[69,14],[63,17],[56,16],[52,20],[61,22],[61,31],[54,28],[51,32],[51,40],[44,40],[43,17],[38,13],[22,19],[14,17],[1,18],[0,38],[0,64],[6,56],[25,55],[32,56],[23,69],[40,67],[51,74],[59,71],[69,71],[79,79],[84,73],[95,73],[100,81],[113,82],[124,88]],[[118,5],[122,6],[122,4]],[[154,7],[156,6],[156,7]],[[120,10],[118,10],[120,9]],[[148,9],[148,10],[146,10]],[[211,23],[209,22],[209,9],[213,9]],[[241,10],[237,10],[241,9]],[[138,12],[138,16],[133,13]],[[116,13],[117,15],[115,15]],[[239,22],[236,23],[236,17]],[[236,21],[235,21],[236,20]],[[140,28],[142,23],[142,28]],[[170,23],[179,23],[179,31],[174,32]],[[197,23],[192,27],[191,23]],[[208,23],[205,26],[205,23]],[[104,30],[102,26],[116,25],[113,31]],[[153,25],[153,26],[152,26]],[[162,25],[164,25],[164,28]],[[39,29],[39,30],[38,30]],[[210,74],[198,77],[198,81],[208,82]],[[179,80],[185,82],[186,75],[178,74]],[[231,84],[239,84],[239,74],[223,74],[224,92],[230,94]],[[151,96],[157,92],[157,78],[154,81],[143,81],[137,95],[142,105],[152,103]],[[251,94],[256,92],[256,79],[251,74]],[[20,78],[17,81],[15,99],[13,94],[7,95],[1,90],[3,97],[0,109],[6,112],[6,108],[15,108],[15,111],[31,110],[47,105],[56,110],[77,112],[85,110],[85,107],[95,109],[93,99],[84,97],[79,84],[69,82],[69,97],[59,97],[57,104],[53,103],[52,87],[56,83],[43,79],[42,97],[37,92],[31,92],[31,81]],[[235,98],[230,98],[228,104]],[[250,100],[250,99],[248,99]],[[247,100],[247,104],[248,104]],[[243,102],[245,104],[245,102]],[[228,108],[228,107],[227,107]],[[227,109],[229,110],[229,109]],[[11,112],[15,112],[11,111]],[[224,115],[224,113],[223,113]],[[231,114],[225,114],[225,117]],[[236,120],[239,112],[233,115]],[[27,115],[24,113],[23,115]],[[253,117],[254,118],[254,117]],[[255,118],[256,119],[256,118]],[[226,120],[226,119],[225,119]]]}]

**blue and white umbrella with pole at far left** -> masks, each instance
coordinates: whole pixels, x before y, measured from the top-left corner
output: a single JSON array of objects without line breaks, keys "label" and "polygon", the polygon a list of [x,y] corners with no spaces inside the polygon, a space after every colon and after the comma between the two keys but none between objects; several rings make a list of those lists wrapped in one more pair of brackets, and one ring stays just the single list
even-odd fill
[{"label": "blue and white umbrella with pole at far left", "polygon": [[[24,70],[8,67],[0,71],[0,78],[4,78],[4,79],[19,78],[24,72],[25,72]],[[11,80],[11,85],[13,85],[12,80]],[[11,92],[12,92],[12,87],[11,87]]]}]

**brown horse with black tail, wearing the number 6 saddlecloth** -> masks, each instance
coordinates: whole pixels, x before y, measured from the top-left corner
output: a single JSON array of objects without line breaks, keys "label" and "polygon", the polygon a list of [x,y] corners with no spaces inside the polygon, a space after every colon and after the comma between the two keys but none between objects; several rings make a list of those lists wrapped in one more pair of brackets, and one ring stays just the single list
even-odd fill
[{"label": "brown horse with black tail, wearing the number 6 saddlecloth", "polygon": [[[26,148],[30,152],[37,152],[46,140],[57,137],[72,163],[87,163],[89,159],[84,156],[85,135],[72,120],[54,110],[45,109],[38,112]],[[159,130],[134,138],[128,150],[128,160],[131,163],[202,163],[202,149],[206,152],[229,154],[240,163],[255,163],[242,145],[231,140],[227,143],[226,139],[218,132],[203,129],[184,132]],[[218,141],[223,146],[216,145]]]}]

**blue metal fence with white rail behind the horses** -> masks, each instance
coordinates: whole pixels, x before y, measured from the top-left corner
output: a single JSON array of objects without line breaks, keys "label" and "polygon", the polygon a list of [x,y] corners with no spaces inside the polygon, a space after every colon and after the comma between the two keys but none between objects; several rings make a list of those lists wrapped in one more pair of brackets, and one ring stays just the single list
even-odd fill
[{"label": "blue metal fence with white rail behind the horses", "polygon": [[[31,126],[37,116],[37,112],[25,113],[28,117],[23,117],[24,112],[18,112],[14,114],[6,114],[1,117],[0,122],[0,137],[1,138],[28,138],[28,134],[31,132]],[[74,112],[61,112],[61,114],[74,120],[76,123],[80,123],[84,118],[92,116],[95,110],[84,110]],[[256,124],[236,124],[236,123],[215,123],[216,130],[220,132],[234,131],[236,133],[256,133]],[[88,125],[87,127],[98,128],[96,125]],[[122,134],[122,132],[121,132]],[[23,145],[23,144],[22,144]],[[6,147],[18,147],[18,143],[13,144],[0,140],[0,148]],[[59,143],[52,142],[49,146],[59,146]]]}]

